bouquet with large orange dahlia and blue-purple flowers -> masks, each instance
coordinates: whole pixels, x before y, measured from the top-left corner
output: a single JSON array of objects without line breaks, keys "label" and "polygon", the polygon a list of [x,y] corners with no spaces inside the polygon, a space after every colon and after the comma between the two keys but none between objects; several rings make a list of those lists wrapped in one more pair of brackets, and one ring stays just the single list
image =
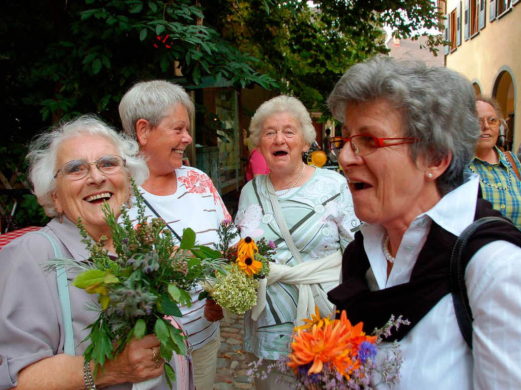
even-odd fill
[{"label": "bouquet with large orange dahlia and blue-purple flowers", "polygon": [[[340,319],[321,318],[318,308],[306,324],[294,329],[291,352],[277,363],[268,366],[268,371],[278,371],[294,376],[296,389],[371,389],[375,378],[380,382],[395,384],[400,381],[403,359],[397,342],[379,346],[383,336],[392,328],[408,324],[402,317],[389,319],[373,335],[363,332],[363,323],[352,325],[345,310]],[[382,359],[376,361],[378,351]],[[252,364],[249,375],[263,376],[259,372],[262,362]],[[373,380],[371,382],[371,379]]]}]

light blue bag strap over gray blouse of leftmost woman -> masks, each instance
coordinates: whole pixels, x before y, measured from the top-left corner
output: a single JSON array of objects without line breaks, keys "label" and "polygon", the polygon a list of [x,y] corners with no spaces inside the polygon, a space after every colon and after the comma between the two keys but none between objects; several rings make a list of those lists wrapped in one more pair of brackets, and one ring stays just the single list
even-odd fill
[{"label": "light blue bag strap over gray blouse of leftmost woman", "polygon": [[[63,258],[61,249],[53,237],[40,231],[35,233],[39,233],[47,237],[47,240],[49,240],[53,246],[55,258]],[[70,310],[69,283],[67,282],[67,271],[65,270],[64,266],[56,267],[56,278],[58,280],[58,297],[60,299],[61,305],[61,317],[63,317],[62,319],[64,322],[64,352],[67,355],[75,356],[74,333],[72,331],[72,313]]]}]

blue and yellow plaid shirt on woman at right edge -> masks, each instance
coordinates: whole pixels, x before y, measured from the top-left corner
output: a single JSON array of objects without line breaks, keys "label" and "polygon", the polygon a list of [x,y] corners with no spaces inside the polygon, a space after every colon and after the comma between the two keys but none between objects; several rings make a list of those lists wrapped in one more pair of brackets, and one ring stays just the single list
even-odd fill
[{"label": "blue and yellow plaid shirt on woman at right edge", "polygon": [[[517,229],[521,229],[521,182],[517,179],[505,154],[497,147],[494,148],[499,162],[490,164],[474,156],[468,168],[479,174],[483,198],[492,203],[493,208],[501,211],[503,216],[510,219]],[[512,154],[512,157],[517,170],[521,172],[519,160],[515,154]]]}]

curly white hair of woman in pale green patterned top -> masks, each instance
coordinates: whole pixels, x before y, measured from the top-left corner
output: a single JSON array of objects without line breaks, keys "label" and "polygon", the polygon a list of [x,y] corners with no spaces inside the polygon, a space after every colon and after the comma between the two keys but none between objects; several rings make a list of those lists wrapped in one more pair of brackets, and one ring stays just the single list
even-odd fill
[{"label": "curly white hair of woman in pale green patterned top", "polygon": [[311,117],[302,102],[293,96],[280,95],[267,100],[255,111],[250,123],[250,137],[255,146],[261,138],[261,131],[264,121],[271,115],[280,112],[288,112],[302,128],[302,135],[306,144],[311,145],[317,136]]}]

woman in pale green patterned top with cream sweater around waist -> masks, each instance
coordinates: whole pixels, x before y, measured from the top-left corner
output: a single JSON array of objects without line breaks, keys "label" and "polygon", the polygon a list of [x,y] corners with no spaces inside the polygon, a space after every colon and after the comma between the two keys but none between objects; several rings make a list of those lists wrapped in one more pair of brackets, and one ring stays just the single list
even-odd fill
[{"label": "woman in pale green patterned top with cream sweater around waist", "polygon": [[[282,95],[263,103],[250,134],[270,173],[244,186],[235,224],[242,237],[265,237],[277,245],[276,265],[261,281],[265,296],[259,294],[245,316],[244,348],[266,365],[287,353],[293,327],[315,305],[331,314],[325,294],[338,284],[342,251],[359,222],[345,179],[302,161],[316,133],[299,99]],[[256,388],[284,388],[279,376],[272,371],[256,379]]]}]

